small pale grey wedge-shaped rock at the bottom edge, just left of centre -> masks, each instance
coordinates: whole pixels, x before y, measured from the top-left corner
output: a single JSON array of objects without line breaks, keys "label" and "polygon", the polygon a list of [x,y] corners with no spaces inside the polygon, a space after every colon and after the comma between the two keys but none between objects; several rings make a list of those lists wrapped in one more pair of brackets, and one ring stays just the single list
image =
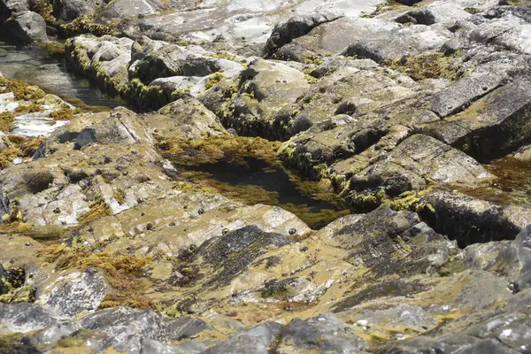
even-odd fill
[{"label": "small pale grey wedge-shaped rock at the bottom edge, just left of centre", "polygon": [[266,323],[249,330],[243,330],[238,334],[221,342],[212,348],[205,350],[205,354],[221,353],[269,353],[273,342],[281,333],[281,325],[278,323]]}]

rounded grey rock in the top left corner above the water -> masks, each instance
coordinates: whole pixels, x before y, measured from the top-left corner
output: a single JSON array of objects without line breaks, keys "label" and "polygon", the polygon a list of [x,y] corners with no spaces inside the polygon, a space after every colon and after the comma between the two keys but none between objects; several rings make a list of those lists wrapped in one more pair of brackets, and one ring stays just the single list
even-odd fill
[{"label": "rounded grey rock in the top left corner above the water", "polygon": [[17,12],[12,19],[4,22],[2,28],[12,39],[20,42],[48,42],[46,22],[35,12]]}]

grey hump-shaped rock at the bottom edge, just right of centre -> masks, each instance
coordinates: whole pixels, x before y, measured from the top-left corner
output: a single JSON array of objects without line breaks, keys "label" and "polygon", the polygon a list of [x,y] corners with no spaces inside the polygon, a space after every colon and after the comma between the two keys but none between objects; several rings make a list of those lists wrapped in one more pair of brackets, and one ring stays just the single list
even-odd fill
[{"label": "grey hump-shaped rock at the bottom edge, just right of centre", "polygon": [[312,319],[293,319],[282,329],[280,353],[308,352],[361,352],[366,343],[350,333],[341,319],[323,313]]}]

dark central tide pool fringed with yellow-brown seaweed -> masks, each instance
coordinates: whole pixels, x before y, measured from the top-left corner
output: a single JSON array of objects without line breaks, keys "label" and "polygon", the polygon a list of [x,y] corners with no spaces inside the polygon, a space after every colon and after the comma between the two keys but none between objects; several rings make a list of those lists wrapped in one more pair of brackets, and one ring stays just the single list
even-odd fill
[{"label": "dark central tide pool fringed with yellow-brown seaweed", "polygon": [[[243,161],[243,163],[242,163]],[[220,160],[212,164],[176,165],[180,178],[214,188],[223,196],[244,204],[278,205],[293,212],[310,227],[324,227],[329,222],[349,214],[342,201],[332,193],[308,189],[313,182],[297,183],[295,174],[258,158],[243,158],[236,163]]]}]

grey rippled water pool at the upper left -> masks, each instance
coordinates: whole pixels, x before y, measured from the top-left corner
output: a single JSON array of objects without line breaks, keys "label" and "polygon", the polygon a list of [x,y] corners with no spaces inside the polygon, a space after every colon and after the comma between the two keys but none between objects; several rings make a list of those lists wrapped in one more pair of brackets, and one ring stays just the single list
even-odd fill
[{"label": "grey rippled water pool at the upper left", "polygon": [[[79,99],[91,106],[116,107],[123,105],[117,98],[105,96],[91,87],[89,81],[66,71],[63,60],[52,58],[44,48],[36,46],[13,47],[0,42],[0,73],[8,79],[17,79],[37,85],[47,93],[61,96],[66,101]],[[7,54],[7,55],[5,55]]]}]

